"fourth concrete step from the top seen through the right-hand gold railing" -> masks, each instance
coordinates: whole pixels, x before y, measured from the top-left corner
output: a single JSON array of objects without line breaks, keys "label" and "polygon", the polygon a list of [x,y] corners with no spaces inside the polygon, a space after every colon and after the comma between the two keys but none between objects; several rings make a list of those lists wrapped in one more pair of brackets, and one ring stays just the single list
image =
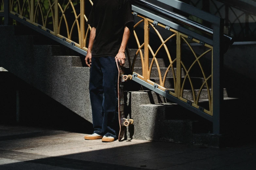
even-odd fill
[{"label": "fourth concrete step from the top seen through the right-hand gold railing", "polygon": [[[150,78],[151,81],[156,82],[157,84],[160,83],[160,79],[158,78]],[[193,87],[195,89],[200,89],[201,85],[204,82],[203,78],[198,78],[198,77],[192,77],[191,78],[192,83],[193,83]],[[184,77],[181,78],[181,82],[184,81]],[[209,82],[209,84],[211,84],[211,82]],[[164,87],[168,88],[168,89],[174,89],[174,80],[173,77],[167,77],[164,83]],[[191,89],[191,85],[190,85],[190,81],[188,80],[188,78],[186,78],[185,84],[184,84],[184,89]]]}]

